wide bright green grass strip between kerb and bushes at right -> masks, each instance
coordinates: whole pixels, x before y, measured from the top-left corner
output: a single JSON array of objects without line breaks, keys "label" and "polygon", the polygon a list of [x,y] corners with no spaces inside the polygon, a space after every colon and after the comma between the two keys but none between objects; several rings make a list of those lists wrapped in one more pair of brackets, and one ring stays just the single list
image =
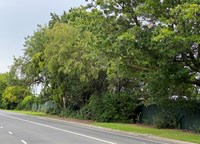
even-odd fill
[{"label": "wide bright green grass strip between kerb and bushes at right", "polygon": [[120,123],[93,123],[93,125],[110,128],[113,130],[134,132],[140,134],[151,134],[163,138],[181,140],[186,142],[194,142],[200,144],[200,134],[184,132],[180,130],[156,129],[152,127],[133,125],[133,124],[120,124]]}]

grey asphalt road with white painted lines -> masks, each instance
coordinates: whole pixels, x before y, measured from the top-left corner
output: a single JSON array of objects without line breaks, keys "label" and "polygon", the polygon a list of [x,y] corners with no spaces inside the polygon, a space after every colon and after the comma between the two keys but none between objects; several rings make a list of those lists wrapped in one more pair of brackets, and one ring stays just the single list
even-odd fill
[{"label": "grey asphalt road with white painted lines", "polygon": [[177,144],[0,110],[1,144]]}]

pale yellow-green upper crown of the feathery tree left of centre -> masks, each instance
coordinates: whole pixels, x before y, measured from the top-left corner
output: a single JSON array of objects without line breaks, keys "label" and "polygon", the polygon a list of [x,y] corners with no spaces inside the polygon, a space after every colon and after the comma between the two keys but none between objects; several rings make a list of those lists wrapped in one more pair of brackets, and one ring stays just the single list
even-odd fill
[{"label": "pale yellow-green upper crown of the feathery tree left of centre", "polygon": [[55,24],[47,35],[50,43],[45,49],[45,58],[51,73],[56,70],[66,75],[78,74],[81,81],[97,77],[94,65],[99,56],[91,45],[95,42],[92,33],[80,33],[74,27],[61,23]]}]

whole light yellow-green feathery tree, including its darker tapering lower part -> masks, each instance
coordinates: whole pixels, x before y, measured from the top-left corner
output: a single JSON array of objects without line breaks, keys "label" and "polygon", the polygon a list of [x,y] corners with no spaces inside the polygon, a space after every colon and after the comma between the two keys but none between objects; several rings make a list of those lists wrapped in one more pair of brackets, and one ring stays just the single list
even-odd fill
[{"label": "whole light yellow-green feathery tree, including its darker tapering lower part", "polygon": [[95,59],[99,56],[91,46],[94,38],[89,32],[81,33],[62,23],[55,24],[47,31],[47,35],[50,42],[46,45],[45,59],[53,78],[50,84],[52,89],[57,89],[57,96],[61,96],[59,101],[63,98],[68,101],[70,95],[73,95],[75,83],[81,86],[81,81],[97,77]]}]

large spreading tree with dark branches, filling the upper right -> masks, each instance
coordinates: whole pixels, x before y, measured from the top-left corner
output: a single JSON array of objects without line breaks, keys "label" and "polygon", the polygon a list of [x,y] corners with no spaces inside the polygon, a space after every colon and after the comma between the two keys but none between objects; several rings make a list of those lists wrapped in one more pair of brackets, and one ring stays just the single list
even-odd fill
[{"label": "large spreading tree with dark branches, filling the upper right", "polygon": [[[114,27],[119,29],[108,36],[109,39],[114,37],[109,52],[112,57],[121,58],[121,66],[125,68],[122,72],[131,68],[130,74],[140,73],[134,77],[147,86],[147,92],[151,90],[151,95],[156,92],[161,96],[164,89],[167,93],[162,95],[163,98],[174,94],[189,96],[196,92],[194,85],[198,86],[199,81],[199,2],[94,0],[91,3],[93,8],[100,6],[106,17],[116,17]],[[154,89],[158,88],[154,87],[154,80],[159,78],[162,78],[157,82],[162,94]],[[175,90],[177,86],[178,91]]]}]

